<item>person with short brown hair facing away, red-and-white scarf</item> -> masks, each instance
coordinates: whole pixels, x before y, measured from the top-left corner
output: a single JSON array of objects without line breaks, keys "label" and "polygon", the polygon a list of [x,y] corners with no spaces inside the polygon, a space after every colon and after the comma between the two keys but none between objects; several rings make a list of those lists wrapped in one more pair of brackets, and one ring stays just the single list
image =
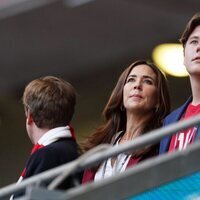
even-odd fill
[{"label": "person with short brown hair facing away, red-and-white scarf", "polygon": [[[23,94],[26,130],[34,147],[18,182],[79,156],[70,121],[76,92],[71,84],[53,76],[30,82]],[[68,179],[64,187],[72,186]]]}]

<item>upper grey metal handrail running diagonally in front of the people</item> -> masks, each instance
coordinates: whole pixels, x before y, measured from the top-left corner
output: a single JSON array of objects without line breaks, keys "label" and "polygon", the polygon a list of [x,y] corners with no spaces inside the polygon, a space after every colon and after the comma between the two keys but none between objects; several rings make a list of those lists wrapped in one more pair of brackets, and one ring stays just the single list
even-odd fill
[{"label": "upper grey metal handrail running diagonally in front of the people", "polygon": [[90,151],[88,151],[88,155],[90,156],[86,156],[87,154],[83,155],[84,159],[82,159],[82,156],[81,156],[70,163],[64,164],[54,169],[42,172],[33,177],[27,178],[19,184],[13,183],[9,186],[1,188],[0,198],[9,196],[17,191],[21,191],[25,189],[27,186],[37,184],[38,182],[53,179],[60,174],[62,176],[66,176],[66,174],[69,175],[71,172],[80,171],[85,168],[94,166],[109,157],[116,156],[123,152],[136,150],[148,144],[154,144],[160,141],[163,137],[170,136],[177,131],[184,130],[190,126],[195,126],[198,124],[200,124],[200,115],[194,116],[184,121],[179,121],[177,123],[168,125],[166,127],[162,127],[162,128],[150,131],[147,134],[144,134],[138,138],[135,138],[133,141],[129,141],[119,146],[106,147],[104,151],[102,150],[100,152],[97,151],[95,154],[94,154],[94,149],[93,149],[92,154],[90,154]]}]

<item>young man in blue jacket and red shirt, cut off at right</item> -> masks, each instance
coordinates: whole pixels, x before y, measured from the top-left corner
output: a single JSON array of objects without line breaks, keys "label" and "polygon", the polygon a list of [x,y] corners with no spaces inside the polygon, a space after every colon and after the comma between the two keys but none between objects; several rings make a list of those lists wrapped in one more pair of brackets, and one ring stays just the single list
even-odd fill
[{"label": "young man in blue jacket and red shirt, cut off at right", "polygon": [[[200,114],[200,13],[188,22],[180,42],[184,48],[184,65],[189,73],[192,96],[185,104],[169,114],[164,126]],[[160,143],[160,154],[185,149],[200,136],[200,126],[190,127],[165,137]]]}]

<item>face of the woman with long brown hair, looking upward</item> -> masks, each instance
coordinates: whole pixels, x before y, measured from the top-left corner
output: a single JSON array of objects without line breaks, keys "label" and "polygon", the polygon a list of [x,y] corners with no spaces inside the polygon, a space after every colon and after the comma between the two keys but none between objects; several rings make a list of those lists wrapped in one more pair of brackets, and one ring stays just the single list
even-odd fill
[{"label": "face of the woman with long brown hair, looking upward", "polygon": [[157,80],[154,71],[145,64],[135,66],[126,79],[123,103],[127,112],[151,112],[157,106]]}]

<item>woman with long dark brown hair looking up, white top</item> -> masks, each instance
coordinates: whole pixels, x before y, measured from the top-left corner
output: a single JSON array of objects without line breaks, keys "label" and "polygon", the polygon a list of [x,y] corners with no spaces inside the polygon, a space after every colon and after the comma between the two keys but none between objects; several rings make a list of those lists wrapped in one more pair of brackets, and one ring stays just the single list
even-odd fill
[{"label": "woman with long dark brown hair looking up, white top", "polygon": [[[162,125],[170,111],[170,98],[165,76],[152,63],[136,61],[121,74],[105,106],[105,123],[83,143],[83,151],[111,143],[119,145]],[[97,168],[86,170],[83,183],[122,172],[157,154],[157,145],[136,150],[130,155],[109,158]]]}]

